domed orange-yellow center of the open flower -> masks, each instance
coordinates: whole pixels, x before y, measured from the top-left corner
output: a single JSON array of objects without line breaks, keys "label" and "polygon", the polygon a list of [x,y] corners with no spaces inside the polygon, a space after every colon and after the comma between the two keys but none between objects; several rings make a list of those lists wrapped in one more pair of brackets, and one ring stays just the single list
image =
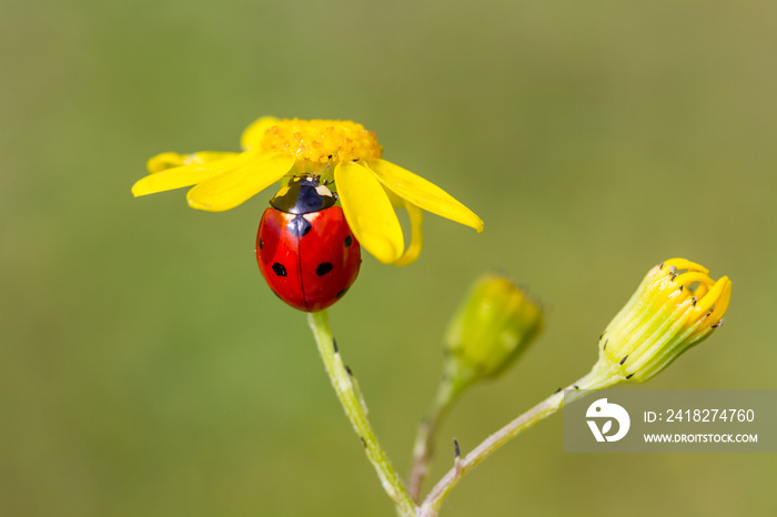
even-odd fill
[{"label": "domed orange-yellow center of the open flower", "polygon": [[350,162],[381,158],[375,133],[347,120],[281,120],[270,126],[260,144],[312,162]]}]

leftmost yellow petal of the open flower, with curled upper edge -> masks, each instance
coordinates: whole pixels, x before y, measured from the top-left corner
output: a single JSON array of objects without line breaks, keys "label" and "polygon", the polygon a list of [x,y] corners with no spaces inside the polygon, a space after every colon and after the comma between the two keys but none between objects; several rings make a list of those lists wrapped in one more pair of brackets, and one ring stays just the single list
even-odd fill
[{"label": "leftmost yellow petal of the open flower, with curled upper edge", "polygon": [[[175,163],[173,156],[164,156],[165,154],[175,153],[164,153],[152,158],[149,160],[149,169],[162,166],[165,161],[167,163]],[[221,160],[173,166],[171,169],[159,169],[161,172],[153,172],[132,185],[132,194],[137,197],[139,195],[155,194],[157,192],[195,185],[222,172],[240,166],[252,158],[253,155],[249,153],[229,153],[228,158]],[[154,162],[155,159],[159,160]],[[181,161],[183,162],[183,159],[181,159]],[[152,164],[152,162],[154,163]]]}]

